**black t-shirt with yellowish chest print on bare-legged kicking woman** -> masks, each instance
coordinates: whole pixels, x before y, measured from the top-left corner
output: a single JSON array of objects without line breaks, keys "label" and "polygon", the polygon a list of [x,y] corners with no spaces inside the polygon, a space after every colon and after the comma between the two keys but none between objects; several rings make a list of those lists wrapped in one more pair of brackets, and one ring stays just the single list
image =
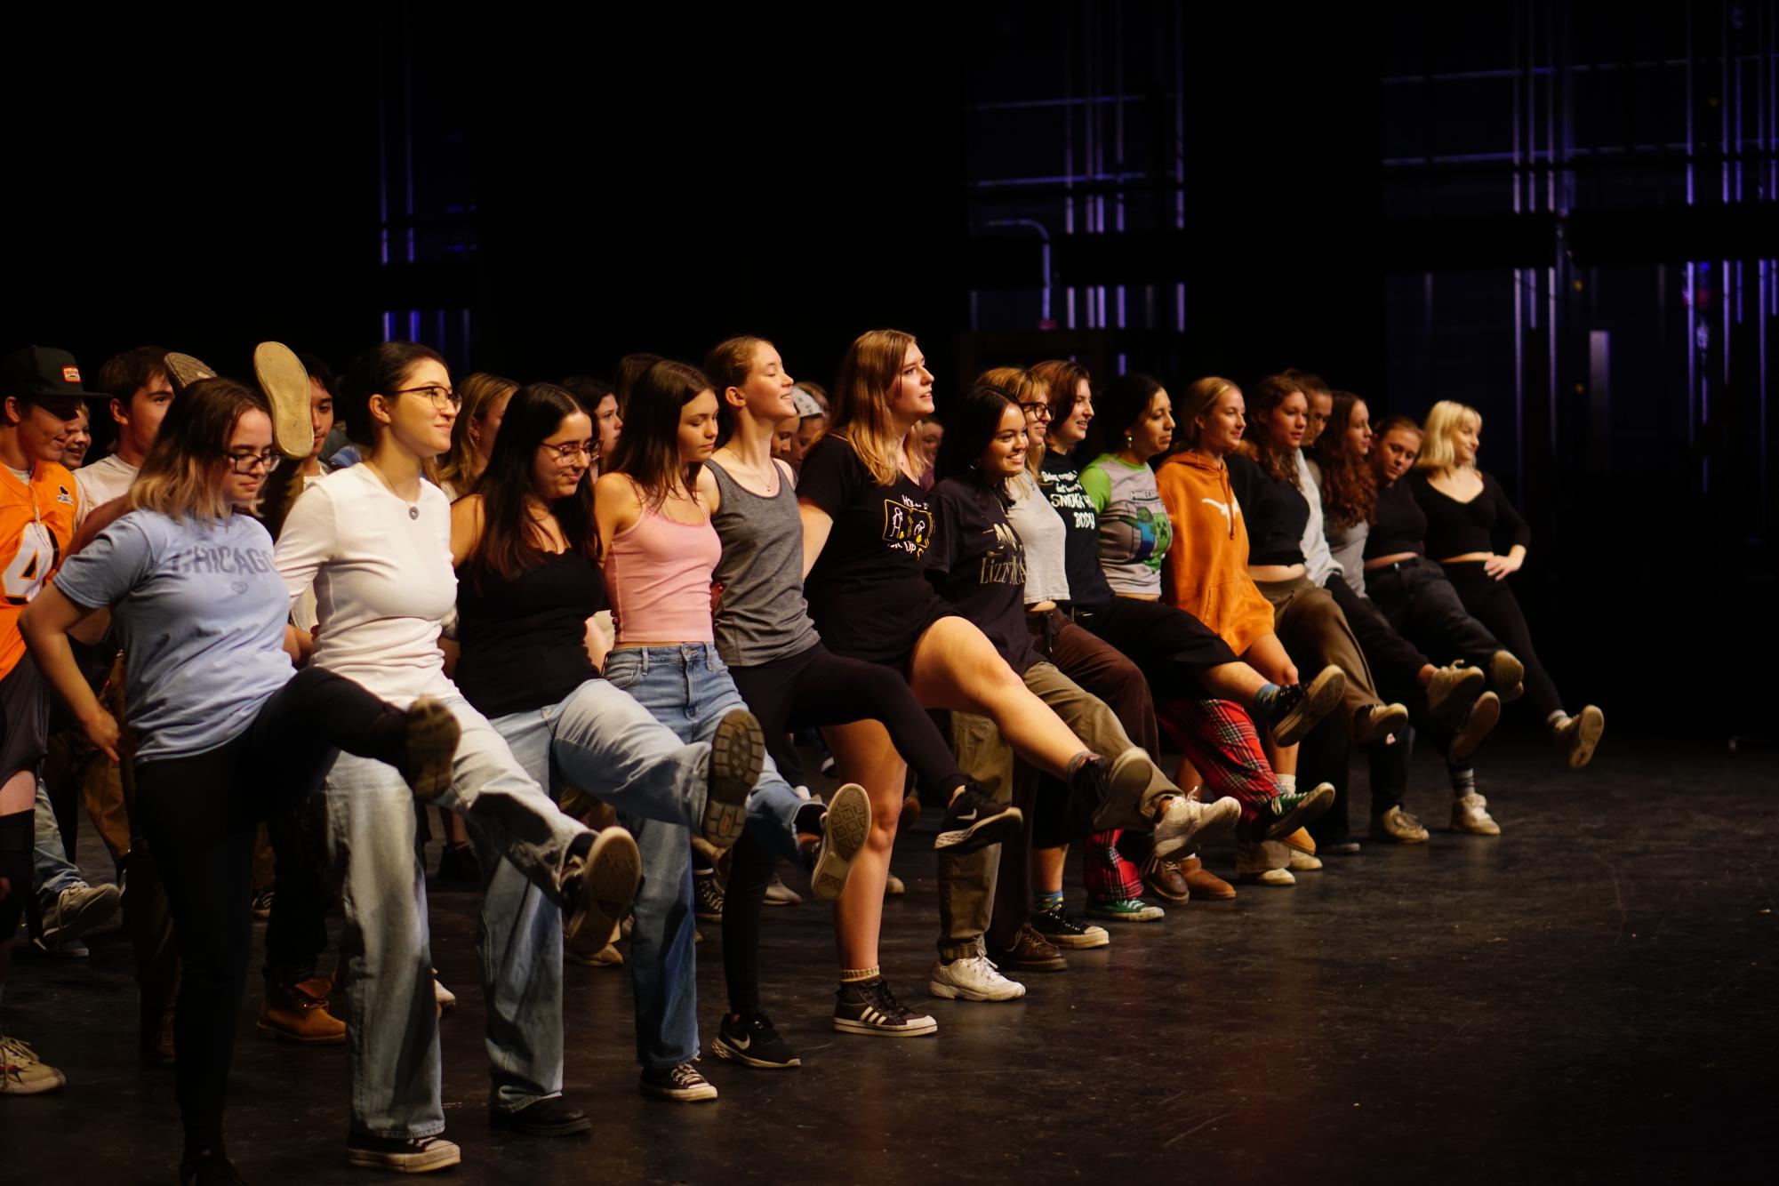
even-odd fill
[{"label": "black t-shirt with yellowish chest print on bare-legged kicking woman", "polygon": [[897,471],[877,485],[852,443],[825,436],[802,459],[797,500],[834,521],[802,596],[834,654],[902,660],[946,608],[922,574],[932,496]]}]

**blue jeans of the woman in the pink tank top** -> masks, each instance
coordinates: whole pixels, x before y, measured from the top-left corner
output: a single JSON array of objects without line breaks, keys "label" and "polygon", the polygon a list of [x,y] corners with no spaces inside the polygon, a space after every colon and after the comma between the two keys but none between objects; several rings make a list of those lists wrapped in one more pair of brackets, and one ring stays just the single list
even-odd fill
[{"label": "blue jeans of the woman in the pink tank top", "polygon": [[[717,649],[703,642],[619,647],[605,660],[607,681],[628,692],[681,741],[710,741],[722,717],[747,708]],[[747,827],[774,852],[797,857],[797,809],[808,800],[765,759],[747,802]],[[630,935],[630,980],[637,1001],[637,1062],[660,1070],[697,1058],[697,912],[683,827],[649,821],[617,805],[642,850],[642,893]]]}]

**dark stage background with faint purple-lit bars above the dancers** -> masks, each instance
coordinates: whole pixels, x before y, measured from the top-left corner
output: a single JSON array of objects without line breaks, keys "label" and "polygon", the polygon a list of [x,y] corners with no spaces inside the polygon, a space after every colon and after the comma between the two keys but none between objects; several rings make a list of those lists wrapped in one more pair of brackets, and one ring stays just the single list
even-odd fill
[{"label": "dark stage background with faint purple-lit bars above the dancers", "polygon": [[1775,4],[1211,7],[9,16],[0,338],[825,382],[893,324],[941,411],[1062,354],[1459,398],[1566,695],[1770,740]]}]

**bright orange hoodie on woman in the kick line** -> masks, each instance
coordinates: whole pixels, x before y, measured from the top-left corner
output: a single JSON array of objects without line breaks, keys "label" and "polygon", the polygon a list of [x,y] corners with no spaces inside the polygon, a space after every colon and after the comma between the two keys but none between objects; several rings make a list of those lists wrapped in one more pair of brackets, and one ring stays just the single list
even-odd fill
[{"label": "bright orange hoodie on woman in the kick line", "polygon": [[1169,457],[1155,475],[1174,546],[1162,597],[1222,635],[1236,654],[1272,633],[1272,603],[1247,576],[1247,525],[1224,464],[1199,450]]}]

